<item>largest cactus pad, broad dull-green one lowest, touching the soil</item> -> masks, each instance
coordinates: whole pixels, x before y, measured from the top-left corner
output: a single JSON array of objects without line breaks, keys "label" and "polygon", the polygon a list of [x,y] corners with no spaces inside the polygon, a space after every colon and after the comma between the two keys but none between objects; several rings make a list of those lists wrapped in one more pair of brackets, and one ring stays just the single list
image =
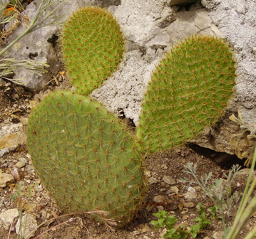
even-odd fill
[{"label": "largest cactus pad, broad dull-green one lowest, touching the soil", "polygon": [[133,137],[98,102],[72,92],[48,95],[29,118],[34,167],[63,211],[108,211],[126,223],[143,193]]}]

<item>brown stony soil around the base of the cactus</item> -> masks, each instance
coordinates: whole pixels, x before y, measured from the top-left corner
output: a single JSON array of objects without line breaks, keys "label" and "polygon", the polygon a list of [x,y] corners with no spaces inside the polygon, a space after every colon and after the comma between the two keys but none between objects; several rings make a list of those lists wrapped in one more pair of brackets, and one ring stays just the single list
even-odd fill
[{"label": "brown stony soil around the base of the cactus", "polygon": [[[6,90],[9,87],[9,90]],[[54,88],[51,85],[51,88]],[[0,128],[7,122],[16,124],[21,118],[29,117],[31,105],[35,101],[39,101],[41,94],[34,95],[26,90],[25,87],[20,87],[14,84],[0,86]],[[34,100],[33,100],[34,99]],[[35,100],[37,99],[37,100]],[[26,126],[26,125],[25,125]],[[26,130],[26,129],[24,129]],[[194,218],[199,216],[196,205],[202,203],[206,208],[213,206],[208,196],[195,184],[181,183],[180,179],[187,177],[183,171],[185,164],[188,162],[198,165],[198,176],[204,176],[210,171],[213,172],[213,179],[224,178],[232,164],[242,161],[237,161],[235,156],[230,156],[229,161],[225,165],[217,164],[215,160],[221,157],[222,154],[213,152],[208,149],[200,148],[196,145],[190,147],[180,147],[166,152],[150,154],[145,156],[145,174],[149,184],[145,191],[145,203],[140,207],[135,218],[133,218],[126,227],[115,231],[108,230],[108,227],[103,223],[99,223],[93,217],[86,214],[64,216],[61,208],[58,208],[54,201],[48,196],[48,193],[41,181],[36,176],[30,159],[24,168],[19,169],[20,180],[16,180],[12,184],[8,184],[5,188],[0,188],[0,210],[6,211],[11,208],[16,208],[17,203],[11,200],[10,195],[15,193],[17,185],[22,182],[22,203],[21,208],[24,211],[36,216],[38,225],[44,223],[37,228],[33,238],[43,233],[41,239],[75,239],[75,238],[104,238],[104,239],[155,239],[163,238],[163,228],[155,230],[150,221],[155,220],[153,213],[159,210],[169,211],[170,214],[178,218],[176,225],[191,226],[195,224]],[[11,151],[1,157],[0,169],[4,172],[11,173],[17,159],[27,156],[26,145],[20,145],[14,151]],[[173,179],[172,185],[167,184],[164,176],[170,176]],[[238,191],[242,194],[246,183],[247,174],[239,176],[232,191]],[[28,198],[28,187],[31,186],[31,198]],[[196,198],[186,199],[185,193],[188,192],[188,187],[192,186],[196,189]],[[162,196],[163,202],[155,203],[153,198]],[[238,205],[233,206],[233,211],[230,212],[230,222],[235,217],[235,212]],[[209,213],[208,213],[209,214]],[[56,216],[61,216],[54,218]],[[73,218],[73,219],[71,219]],[[208,225],[197,238],[220,238],[220,232],[223,230],[221,219],[208,218],[211,225]],[[245,233],[252,230],[256,218],[252,217],[247,223],[245,230],[242,231],[240,238],[243,238]],[[16,221],[14,221],[16,224]],[[46,232],[48,230],[48,232]],[[8,230],[0,226],[0,238],[8,238]],[[219,234],[217,234],[219,233]],[[17,238],[16,233],[11,232],[10,238]]]}]

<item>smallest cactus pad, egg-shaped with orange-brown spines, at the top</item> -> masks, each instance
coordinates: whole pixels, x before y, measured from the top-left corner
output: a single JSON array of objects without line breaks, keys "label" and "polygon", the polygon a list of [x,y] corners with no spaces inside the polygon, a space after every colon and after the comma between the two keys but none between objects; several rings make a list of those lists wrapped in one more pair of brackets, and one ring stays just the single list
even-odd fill
[{"label": "smallest cactus pad, egg-shaped with orange-brown spines, at the top", "polygon": [[105,9],[76,11],[63,27],[63,60],[79,94],[88,95],[117,70],[123,59],[120,26]]}]

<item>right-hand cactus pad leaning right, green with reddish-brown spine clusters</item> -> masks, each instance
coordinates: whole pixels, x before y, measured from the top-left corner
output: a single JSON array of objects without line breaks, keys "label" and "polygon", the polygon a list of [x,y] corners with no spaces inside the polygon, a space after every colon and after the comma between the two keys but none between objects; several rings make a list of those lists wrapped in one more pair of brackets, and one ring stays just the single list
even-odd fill
[{"label": "right-hand cactus pad leaning right, green with reddish-brown spine clusters", "polygon": [[228,43],[193,36],[175,46],[148,84],[137,136],[148,152],[170,149],[213,125],[235,85]]}]

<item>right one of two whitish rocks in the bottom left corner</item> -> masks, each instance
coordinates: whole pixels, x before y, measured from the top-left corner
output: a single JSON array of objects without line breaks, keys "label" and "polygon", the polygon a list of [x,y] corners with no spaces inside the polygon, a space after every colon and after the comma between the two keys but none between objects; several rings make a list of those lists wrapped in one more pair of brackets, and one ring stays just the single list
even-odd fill
[{"label": "right one of two whitish rocks in the bottom left corner", "polygon": [[[26,226],[25,226],[26,225]],[[16,233],[19,233],[19,228],[20,228],[20,218],[16,223],[15,229]],[[37,228],[37,222],[36,222],[36,216],[31,215],[31,214],[25,214],[22,217],[21,220],[21,229],[24,230],[24,238],[27,238],[28,235]],[[32,233],[29,238],[33,237],[35,233]]]}]

